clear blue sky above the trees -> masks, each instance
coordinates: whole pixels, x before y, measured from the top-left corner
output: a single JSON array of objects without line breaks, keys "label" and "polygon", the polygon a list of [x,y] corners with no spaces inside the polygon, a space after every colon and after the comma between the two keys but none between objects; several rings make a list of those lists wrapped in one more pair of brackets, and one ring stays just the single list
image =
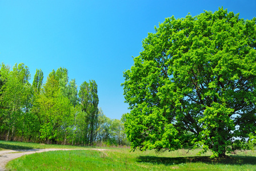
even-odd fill
[{"label": "clear blue sky above the trees", "polygon": [[1,1],[0,62],[25,63],[31,81],[42,69],[45,81],[59,67],[78,87],[98,84],[99,107],[107,117],[129,112],[123,103],[123,71],[133,65],[142,40],[154,26],[175,18],[216,11],[223,6],[240,18],[256,17],[256,0],[230,1]]}]

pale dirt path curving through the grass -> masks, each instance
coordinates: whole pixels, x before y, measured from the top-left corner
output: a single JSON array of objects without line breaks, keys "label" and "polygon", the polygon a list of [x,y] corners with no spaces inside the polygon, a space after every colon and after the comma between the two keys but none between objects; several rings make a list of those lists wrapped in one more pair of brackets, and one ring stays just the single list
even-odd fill
[{"label": "pale dirt path curving through the grass", "polygon": [[46,149],[25,149],[25,150],[3,150],[0,151],[0,171],[5,170],[5,165],[7,162],[13,160],[14,158],[21,157],[25,154],[49,152],[56,150],[105,150],[105,149],[55,149],[55,148],[46,148]]}]

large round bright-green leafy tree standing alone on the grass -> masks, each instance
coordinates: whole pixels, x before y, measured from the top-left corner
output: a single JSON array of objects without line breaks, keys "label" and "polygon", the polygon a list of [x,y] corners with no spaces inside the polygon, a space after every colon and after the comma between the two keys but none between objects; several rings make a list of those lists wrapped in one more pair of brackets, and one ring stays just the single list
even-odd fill
[{"label": "large round bright-green leafy tree standing alone on the grass", "polygon": [[202,145],[222,157],[235,137],[255,139],[255,22],[219,8],[166,18],[143,40],[122,84],[132,148]]}]

